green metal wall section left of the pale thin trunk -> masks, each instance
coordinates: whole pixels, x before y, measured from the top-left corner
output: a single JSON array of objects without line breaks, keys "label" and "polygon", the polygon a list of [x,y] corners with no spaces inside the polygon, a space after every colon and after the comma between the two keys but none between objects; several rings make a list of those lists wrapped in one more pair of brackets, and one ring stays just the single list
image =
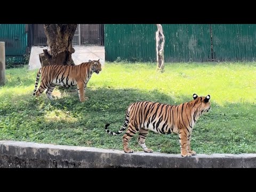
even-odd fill
[{"label": "green metal wall section left of the pale thin trunk", "polygon": [[155,26],[109,24],[104,29],[106,60],[155,60]]}]

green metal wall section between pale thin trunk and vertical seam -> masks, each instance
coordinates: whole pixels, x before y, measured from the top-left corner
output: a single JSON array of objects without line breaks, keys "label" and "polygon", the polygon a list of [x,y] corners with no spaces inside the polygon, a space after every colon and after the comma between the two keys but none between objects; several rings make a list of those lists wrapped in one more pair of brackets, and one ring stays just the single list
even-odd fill
[{"label": "green metal wall section between pale thin trunk and vertical seam", "polygon": [[165,35],[165,62],[208,61],[211,55],[210,26],[162,25]]}]

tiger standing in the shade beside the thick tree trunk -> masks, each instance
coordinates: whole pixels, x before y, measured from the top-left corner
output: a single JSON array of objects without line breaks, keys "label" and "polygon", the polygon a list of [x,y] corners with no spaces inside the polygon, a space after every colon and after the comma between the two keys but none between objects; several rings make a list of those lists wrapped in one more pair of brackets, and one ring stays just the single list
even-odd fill
[{"label": "tiger standing in the shade beside the thick tree trunk", "polygon": [[[62,85],[65,87],[77,85],[79,99],[81,102],[84,102],[88,99],[87,97],[84,97],[84,90],[89,79],[91,78],[93,72],[99,74],[100,71],[100,60],[89,60],[89,62],[83,62],[77,66],[44,66],[38,70],[33,95],[39,96],[44,92],[44,90],[47,89],[46,95],[50,100],[52,100],[52,91],[56,85]],[[41,73],[41,84],[38,90],[36,90]]]}]

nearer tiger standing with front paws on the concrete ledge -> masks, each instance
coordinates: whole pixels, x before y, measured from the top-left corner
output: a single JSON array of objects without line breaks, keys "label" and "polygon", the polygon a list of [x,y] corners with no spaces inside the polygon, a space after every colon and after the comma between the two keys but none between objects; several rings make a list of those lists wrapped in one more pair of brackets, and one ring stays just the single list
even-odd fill
[{"label": "nearer tiger standing with front paws on the concrete ledge", "polygon": [[105,125],[105,130],[111,135],[121,134],[126,127],[128,129],[123,135],[123,148],[125,153],[133,153],[129,148],[129,140],[139,132],[137,141],[142,149],[147,153],[152,153],[148,149],[145,140],[148,131],[156,133],[177,133],[179,134],[180,153],[182,157],[196,155],[190,148],[191,132],[198,118],[209,112],[211,108],[210,95],[198,97],[193,94],[194,100],[182,103],[178,106],[163,104],[159,102],[141,101],[132,103],[126,110],[124,125],[118,132],[108,130],[109,124]]}]

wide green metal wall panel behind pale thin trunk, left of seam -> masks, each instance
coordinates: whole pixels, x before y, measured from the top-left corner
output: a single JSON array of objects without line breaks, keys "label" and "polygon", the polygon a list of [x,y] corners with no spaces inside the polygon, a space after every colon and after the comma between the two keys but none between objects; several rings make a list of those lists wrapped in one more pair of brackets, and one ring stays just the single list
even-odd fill
[{"label": "wide green metal wall panel behind pale thin trunk, left of seam", "polygon": [[[209,25],[164,24],[165,62],[207,61],[211,53]],[[105,25],[105,59],[156,61],[156,25]]]}]

